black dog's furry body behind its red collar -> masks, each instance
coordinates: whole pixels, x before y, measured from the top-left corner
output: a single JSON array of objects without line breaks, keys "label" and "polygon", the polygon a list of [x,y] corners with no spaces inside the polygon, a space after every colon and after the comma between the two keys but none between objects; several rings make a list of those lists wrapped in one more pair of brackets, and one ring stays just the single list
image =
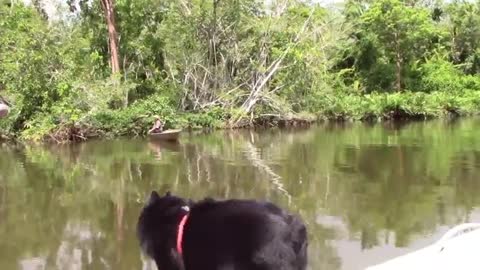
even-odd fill
[{"label": "black dog's furry body behind its red collar", "polygon": [[190,261],[186,269],[216,264],[248,270],[306,268],[308,241],[303,222],[272,203],[208,200],[192,207],[190,220],[185,231],[185,256]]}]

